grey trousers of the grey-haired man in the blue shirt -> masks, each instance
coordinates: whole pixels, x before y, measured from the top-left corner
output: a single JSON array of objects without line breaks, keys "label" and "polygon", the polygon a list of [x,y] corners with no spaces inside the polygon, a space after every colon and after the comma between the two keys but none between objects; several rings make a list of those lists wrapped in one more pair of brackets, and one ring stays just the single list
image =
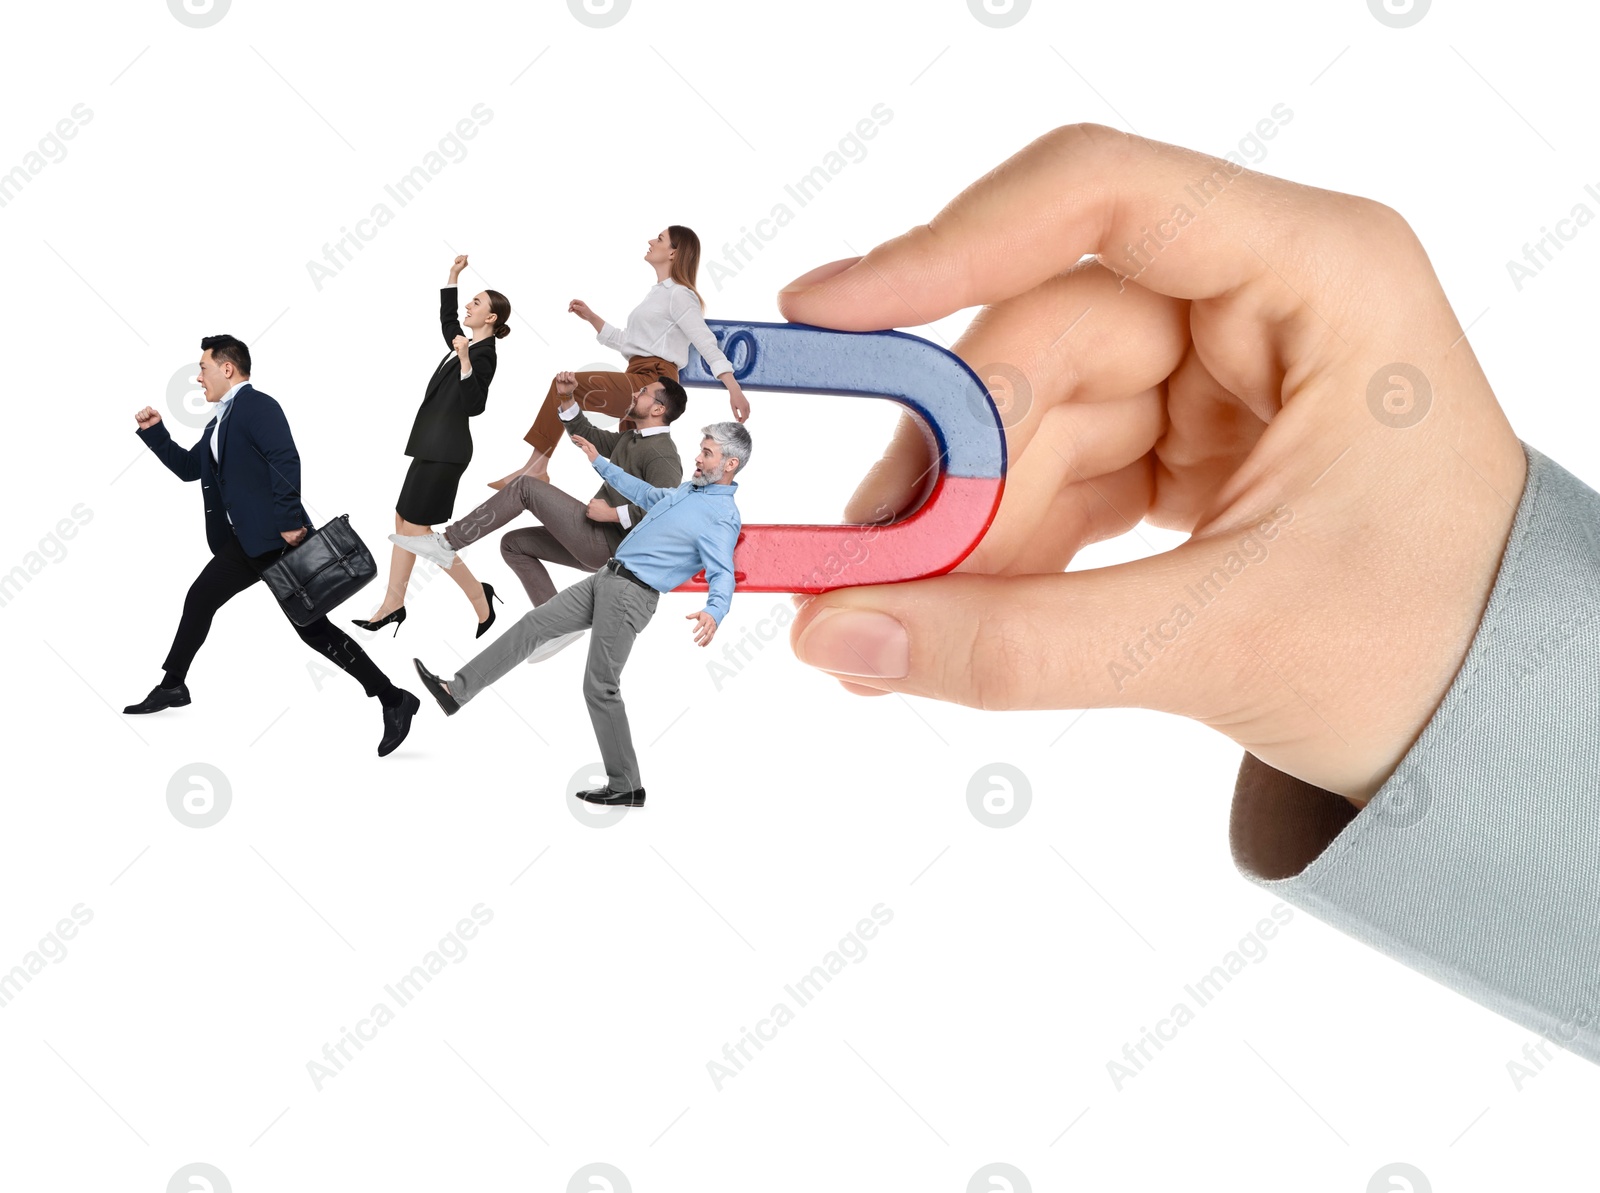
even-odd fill
[{"label": "grey trousers of the grey-haired man in the blue shirt", "polygon": [[584,673],[584,700],[600,740],[600,758],[613,792],[632,792],[638,780],[638,760],[627,731],[622,707],[622,665],[634,649],[634,638],[656,612],[661,593],[602,568],[563,589],[496,638],[450,680],[450,694],[466,704],[506,672],[526,659],[539,643],[573,630],[589,633],[589,668]]}]

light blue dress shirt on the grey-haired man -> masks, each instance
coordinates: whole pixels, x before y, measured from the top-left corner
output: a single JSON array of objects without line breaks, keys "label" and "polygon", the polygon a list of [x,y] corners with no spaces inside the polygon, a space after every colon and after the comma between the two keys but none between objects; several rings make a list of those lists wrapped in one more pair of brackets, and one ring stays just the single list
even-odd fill
[{"label": "light blue dress shirt on the grey-haired man", "polygon": [[733,494],[739,486],[685,481],[675,489],[658,489],[605,456],[594,457],[594,469],[645,510],[643,521],[616,549],[616,558],[658,592],[672,592],[704,568],[706,612],[722,625],[733,603],[733,547],[741,526]]}]

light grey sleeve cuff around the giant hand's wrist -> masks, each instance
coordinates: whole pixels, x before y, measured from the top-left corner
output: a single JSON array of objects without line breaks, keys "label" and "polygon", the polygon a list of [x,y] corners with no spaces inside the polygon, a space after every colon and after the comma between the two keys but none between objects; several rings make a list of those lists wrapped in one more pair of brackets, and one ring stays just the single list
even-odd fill
[{"label": "light grey sleeve cuff around the giant hand's wrist", "polygon": [[1246,753],[1250,881],[1600,1063],[1600,494],[1526,443],[1467,656],[1373,800]]}]

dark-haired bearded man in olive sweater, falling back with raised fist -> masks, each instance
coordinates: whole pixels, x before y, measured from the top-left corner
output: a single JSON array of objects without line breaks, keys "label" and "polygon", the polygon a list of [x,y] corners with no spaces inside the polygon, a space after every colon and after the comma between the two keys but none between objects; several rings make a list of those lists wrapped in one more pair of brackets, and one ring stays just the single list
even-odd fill
[{"label": "dark-haired bearded man in olive sweater, falling back with raised fist", "polygon": [[[555,376],[555,392],[571,398],[578,377],[571,373]],[[674,489],[683,481],[683,459],[667,425],[688,406],[683,387],[670,377],[661,377],[634,390],[634,406],[629,417],[632,430],[602,430],[584,417],[578,401],[563,401],[562,421],[568,435],[589,440],[622,472],[658,489]],[[477,542],[485,534],[499,529],[526,510],[539,520],[539,526],[510,531],[501,539],[501,555],[510,566],[528,600],[538,608],[555,595],[555,584],[544,563],[560,563],[579,571],[597,571],[610,560],[624,536],[637,526],[645,510],[632,504],[610,485],[587,505],[562,493],[554,485],[533,477],[518,477],[504,489],[462,518],[435,534],[390,534],[389,541],[408,552],[448,568],[456,561],[456,552]],[[549,659],[555,651],[582,636],[582,630],[562,635],[544,643],[528,662]]]}]

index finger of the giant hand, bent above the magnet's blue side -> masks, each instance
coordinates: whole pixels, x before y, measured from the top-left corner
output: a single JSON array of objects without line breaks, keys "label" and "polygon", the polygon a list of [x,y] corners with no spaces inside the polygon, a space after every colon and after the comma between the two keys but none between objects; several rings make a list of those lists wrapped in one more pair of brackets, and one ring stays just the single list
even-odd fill
[{"label": "index finger of the giant hand, bent above the magnet's blue side", "polygon": [[[778,293],[778,309],[843,331],[920,326],[1021,294],[1085,256],[1171,297],[1214,297],[1267,273],[1274,246],[1314,241],[1334,224],[1307,203],[1314,197],[1381,209],[1182,146],[1064,125],[926,224],[800,275]],[[1315,305],[1314,293],[1304,297]]]}]

